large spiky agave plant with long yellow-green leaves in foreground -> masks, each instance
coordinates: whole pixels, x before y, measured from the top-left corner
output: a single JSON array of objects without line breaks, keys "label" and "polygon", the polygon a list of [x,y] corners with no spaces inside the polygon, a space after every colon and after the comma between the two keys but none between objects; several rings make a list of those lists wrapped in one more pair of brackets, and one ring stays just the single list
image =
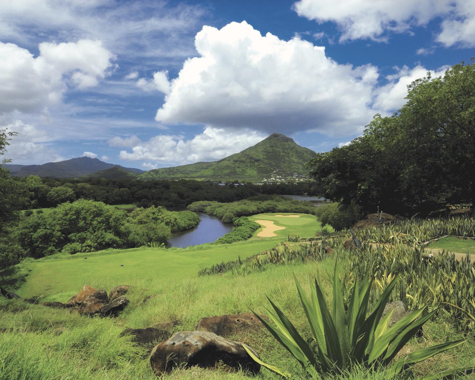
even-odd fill
[{"label": "large spiky agave plant with long yellow-green leaves in foreground", "polygon": [[[437,353],[444,352],[465,342],[465,340],[459,340],[423,348],[393,362],[414,333],[435,313],[435,311],[432,311],[423,315],[426,310],[423,307],[389,327],[393,310],[382,319],[381,316],[397,280],[398,276],[386,287],[367,316],[372,285],[372,280],[368,275],[363,278],[361,284],[358,283],[358,280],[353,284],[350,290],[349,304],[345,311],[342,283],[338,266],[335,264],[333,280],[331,279],[333,282],[332,314],[330,314],[319,285],[321,281],[315,279],[315,286],[311,285],[310,301],[295,278],[300,301],[316,342],[316,352],[297,332],[285,314],[268,297],[267,299],[276,312],[276,314],[273,314],[269,309],[266,309],[267,315],[273,324],[262,319],[259,314],[253,313],[311,376],[316,376],[322,372],[341,374],[351,371],[352,367],[364,366],[375,370],[385,369],[388,378],[390,378],[406,371],[415,363],[424,361]],[[243,347],[259,364],[285,378],[291,377],[289,373],[264,363],[246,346],[243,345]],[[471,373],[474,369],[475,367],[450,369],[437,375],[426,376],[424,379],[446,379],[454,374]]]}]

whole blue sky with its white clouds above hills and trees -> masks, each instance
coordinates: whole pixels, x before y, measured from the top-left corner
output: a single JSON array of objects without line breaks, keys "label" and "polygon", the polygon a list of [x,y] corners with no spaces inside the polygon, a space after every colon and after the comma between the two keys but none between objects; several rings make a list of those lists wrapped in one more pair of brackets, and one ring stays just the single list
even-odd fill
[{"label": "whole blue sky with its white clouds above hills and trees", "polygon": [[6,158],[147,170],[273,132],[323,152],[474,46],[475,0],[2,2]]}]

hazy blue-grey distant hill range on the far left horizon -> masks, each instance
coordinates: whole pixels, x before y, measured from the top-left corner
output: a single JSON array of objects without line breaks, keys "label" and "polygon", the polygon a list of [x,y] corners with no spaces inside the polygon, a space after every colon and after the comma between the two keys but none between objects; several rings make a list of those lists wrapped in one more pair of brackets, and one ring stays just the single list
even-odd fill
[{"label": "hazy blue-grey distant hill range on the far left horizon", "polygon": [[[123,177],[123,171],[133,173],[143,173],[143,170],[136,168],[124,168],[120,165],[103,162],[97,158],[78,157],[71,160],[59,162],[47,162],[42,165],[15,165],[4,164],[3,167],[10,170],[12,176],[28,177],[29,175],[37,175],[38,177],[57,177],[57,178],[77,178],[84,177],[89,174],[97,173],[98,171],[105,171],[107,169],[119,168],[121,171],[115,169],[112,173],[120,173]],[[106,175],[110,175],[106,173]],[[131,175],[133,175],[131,173]],[[105,178],[105,177],[102,177]],[[112,178],[112,177],[110,177]],[[115,178],[115,177],[114,177]]]}]

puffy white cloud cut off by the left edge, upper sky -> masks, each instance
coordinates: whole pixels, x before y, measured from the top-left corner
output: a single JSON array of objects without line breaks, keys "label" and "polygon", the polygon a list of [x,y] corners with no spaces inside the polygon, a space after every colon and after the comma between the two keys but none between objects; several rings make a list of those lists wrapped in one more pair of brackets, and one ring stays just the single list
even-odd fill
[{"label": "puffy white cloud cut off by the left edge, upper sky", "polygon": [[113,58],[100,41],[43,42],[36,58],[27,49],[0,42],[0,83],[4,84],[0,85],[0,114],[38,112],[56,105],[68,79],[80,88],[96,85]]}]

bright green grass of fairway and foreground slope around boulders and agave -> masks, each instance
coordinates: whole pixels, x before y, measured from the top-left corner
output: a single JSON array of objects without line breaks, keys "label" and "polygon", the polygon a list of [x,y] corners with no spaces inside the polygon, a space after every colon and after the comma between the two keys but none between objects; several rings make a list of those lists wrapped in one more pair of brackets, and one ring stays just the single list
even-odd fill
[{"label": "bright green grass of fairway and foreground slope around boulders and agave", "polygon": [[[254,218],[265,217],[260,215]],[[287,232],[305,232],[301,233],[305,235],[306,232],[314,230],[310,224],[302,223],[305,218],[306,216],[302,219],[278,219],[284,219],[283,222],[287,223]],[[197,269],[204,266],[205,261],[214,264],[228,256],[251,255],[254,248],[273,245],[286,235],[286,230],[277,232],[282,236],[253,238],[254,240],[227,246],[168,251],[135,249],[115,251],[115,254],[99,252],[88,254],[87,260],[75,257],[61,260],[51,258],[31,264],[33,270],[26,285],[19,292],[22,295],[27,292],[38,294],[38,286],[46,286],[49,283],[50,289],[45,290],[48,295],[45,299],[65,301],[84,282],[107,291],[115,285],[130,284],[133,287],[127,297],[131,303],[120,317],[109,319],[80,317],[66,310],[0,299],[0,331],[7,329],[7,332],[0,333],[0,373],[8,374],[7,377],[11,379],[25,380],[152,379],[154,377],[147,359],[148,352],[133,346],[129,336],[120,336],[125,327],[144,328],[178,320],[179,325],[174,331],[184,331],[194,330],[199,319],[205,316],[248,312],[249,309],[266,314],[266,295],[275,300],[290,316],[305,339],[310,338],[292,276],[295,273],[308,289],[307,284],[314,278],[316,271],[330,272],[335,258],[339,257],[338,261],[344,266],[344,257],[348,255],[345,251],[335,252],[323,262],[266,266],[264,271],[245,276],[229,273],[221,276],[196,276]],[[95,259],[97,261],[94,261]],[[119,262],[125,259],[128,259],[127,266],[118,266]],[[105,266],[108,261],[114,264]],[[166,271],[162,268],[164,263]],[[135,270],[132,270],[132,266]],[[68,272],[63,273],[66,268]],[[327,299],[331,300],[331,288],[325,276],[323,281],[324,292]],[[143,298],[148,295],[152,295],[152,298],[143,303]],[[55,335],[53,331],[57,327],[63,328],[64,333]],[[8,331],[10,329],[11,332]],[[427,323],[424,333],[423,339],[413,339],[404,352],[460,338],[460,335],[453,331],[451,324],[444,320]],[[299,376],[303,373],[296,361],[270,334],[246,334],[233,339],[254,347],[264,361],[285,371],[295,371],[295,379],[303,378]],[[415,376],[467,364],[475,365],[474,357],[475,346],[467,344],[418,365]],[[329,376],[326,379],[386,378],[380,373],[371,375],[367,371],[360,371],[352,376]],[[221,370],[192,369],[174,371],[166,379],[248,380],[249,377]],[[262,369],[255,379],[281,378]]]}]

